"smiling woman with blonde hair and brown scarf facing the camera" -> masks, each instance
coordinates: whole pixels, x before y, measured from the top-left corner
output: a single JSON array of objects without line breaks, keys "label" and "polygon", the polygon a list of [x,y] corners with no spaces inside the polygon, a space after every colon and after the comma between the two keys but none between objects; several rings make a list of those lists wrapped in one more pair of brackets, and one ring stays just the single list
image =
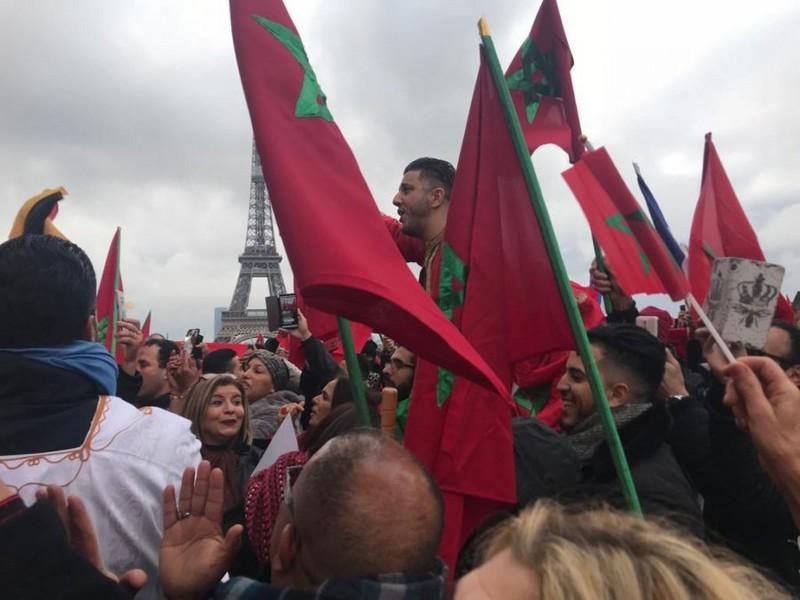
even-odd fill
[{"label": "smiling woman with blonde hair and brown scarf facing the camera", "polygon": [[258,462],[250,445],[245,388],[234,375],[204,375],[189,390],[182,415],[192,422],[200,454],[225,474],[225,510],[242,503],[245,483]]}]

